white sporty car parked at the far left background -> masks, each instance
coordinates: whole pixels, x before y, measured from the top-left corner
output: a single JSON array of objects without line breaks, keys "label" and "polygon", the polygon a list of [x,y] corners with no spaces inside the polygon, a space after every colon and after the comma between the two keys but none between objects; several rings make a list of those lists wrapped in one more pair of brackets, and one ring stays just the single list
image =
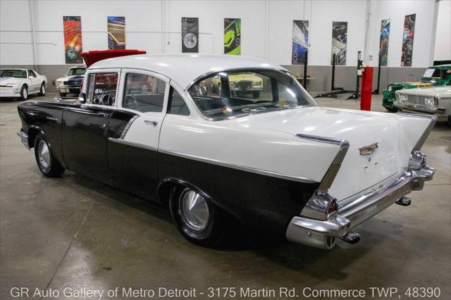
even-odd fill
[{"label": "white sporty car parked at the far left background", "polygon": [[0,97],[27,100],[30,94],[44,96],[47,77],[35,70],[0,69]]}]

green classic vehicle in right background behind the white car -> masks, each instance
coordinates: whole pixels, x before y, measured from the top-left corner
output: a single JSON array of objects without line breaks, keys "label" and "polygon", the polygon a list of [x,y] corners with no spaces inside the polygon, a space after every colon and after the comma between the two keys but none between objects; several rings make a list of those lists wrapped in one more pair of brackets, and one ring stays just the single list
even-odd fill
[{"label": "green classic vehicle in right background behind the white car", "polygon": [[383,91],[382,105],[388,111],[401,111],[402,108],[395,104],[397,90],[438,85],[451,85],[451,65],[433,65],[427,68],[420,82],[394,82],[388,85]]}]

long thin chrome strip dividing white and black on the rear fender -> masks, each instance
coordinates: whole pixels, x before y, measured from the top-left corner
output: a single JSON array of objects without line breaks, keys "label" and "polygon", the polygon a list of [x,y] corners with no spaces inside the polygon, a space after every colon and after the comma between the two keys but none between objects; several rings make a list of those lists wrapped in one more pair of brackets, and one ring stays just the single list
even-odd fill
[{"label": "long thin chrome strip dividing white and black on the rear fender", "polygon": [[160,148],[160,149],[158,149],[158,151],[163,154],[175,155],[175,156],[179,156],[182,158],[192,159],[194,161],[201,161],[202,163],[212,163],[214,165],[221,165],[223,167],[233,168],[236,170],[243,170],[246,172],[256,173],[259,175],[268,175],[271,177],[277,177],[277,178],[284,179],[284,180],[292,180],[292,181],[304,182],[304,183],[315,183],[316,182],[315,180],[311,180],[311,179],[305,178],[305,177],[286,175],[286,174],[276,173],[276,172],[272,172],[272,171],[268,171],[268,170],[261,170],[261,169],[257,169],[257,168],[246,167],[245,165],[235,165],[233,163],[226,163],[224,161],[217,161],[216,159],[204,158],[204,157],[200,157],[200,156],[194,156],[191,154],[183,154],[180,152],[171,151],[171,150],[167,150],[167,149]]}]

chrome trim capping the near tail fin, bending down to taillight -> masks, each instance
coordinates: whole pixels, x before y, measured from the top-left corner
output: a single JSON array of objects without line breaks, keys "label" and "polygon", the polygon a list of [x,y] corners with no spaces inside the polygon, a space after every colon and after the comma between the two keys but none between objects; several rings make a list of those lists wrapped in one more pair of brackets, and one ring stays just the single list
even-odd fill
[{"label": "chrome trim capping the near tail fin, bending down to taillight", "polygon": [[318,187],[318,189],[327,190],[332,185],[333,180],[335,180],[335,176],[337,176],[338,170],[340,170],[341,163],[343,162],[343,159],[345,159],[347,149],[349,149],[350,147],[350,143],[347,142],[346,139],[335,139],[333,137],[319,137],[317,135],[303,135],[300,133],[298,133],[296,136],[302,139],[310,139],[316,142],[323,142],[340,146],[337,155],[335,156],[335,158],[333,158],[332,163],[330,164],[326,174],[321,180],[321,184]]}]

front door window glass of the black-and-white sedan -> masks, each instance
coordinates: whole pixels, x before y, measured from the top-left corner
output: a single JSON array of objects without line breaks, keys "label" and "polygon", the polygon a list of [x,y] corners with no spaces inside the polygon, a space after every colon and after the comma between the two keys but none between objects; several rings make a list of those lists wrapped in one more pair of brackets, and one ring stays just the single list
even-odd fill
[{"label": "front door window glass of the black-and-white sedan", "polygon": [[90,73],[87,81],[87,103],[114,106],[118,73]]}]

